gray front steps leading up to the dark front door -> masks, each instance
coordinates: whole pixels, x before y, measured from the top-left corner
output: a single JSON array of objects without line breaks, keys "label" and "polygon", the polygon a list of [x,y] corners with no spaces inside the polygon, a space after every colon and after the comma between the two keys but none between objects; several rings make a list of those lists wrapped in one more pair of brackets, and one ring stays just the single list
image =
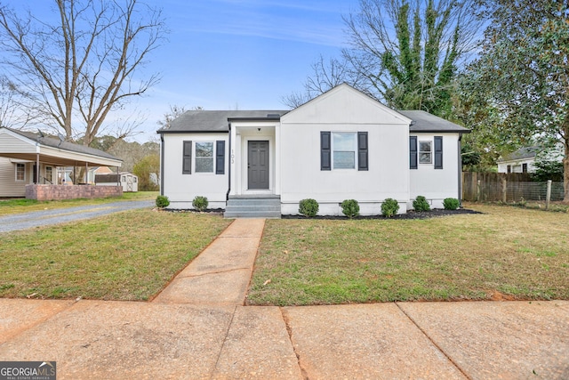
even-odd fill
[{"label": "gray front steps leading up to the dark front door", "polygon": [[225,207],[225,218],[280,218],[281,198],[267,196],[231,196]]}]

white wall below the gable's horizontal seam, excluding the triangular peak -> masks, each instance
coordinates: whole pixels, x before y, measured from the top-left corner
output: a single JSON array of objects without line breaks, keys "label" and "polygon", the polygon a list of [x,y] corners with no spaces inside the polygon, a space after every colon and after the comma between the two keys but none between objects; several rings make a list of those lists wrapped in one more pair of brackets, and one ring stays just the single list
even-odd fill
[{"label": "white wall below the gable's horizontal seam, excluding the triangular peak", "polygon": [[[315,198],[320,214],[341,214],[353,198],[361,214],[381,214],[381,202],[395,198],[405,213],[408,190],[406,125],[283,125],[281,200],[283,214],[298,214],[301,199]],[[320,132],[367,132],[369,170],[320,170]]]}]

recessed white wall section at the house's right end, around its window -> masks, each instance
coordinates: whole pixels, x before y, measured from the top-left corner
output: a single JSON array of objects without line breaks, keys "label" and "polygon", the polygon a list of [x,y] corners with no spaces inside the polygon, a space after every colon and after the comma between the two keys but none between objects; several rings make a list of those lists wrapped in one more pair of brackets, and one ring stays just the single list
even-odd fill
[{"label": "recessed white wall section at the house's right end, around its window", "polygon": [[[420,141],[432,141],[431,164],[418,163],[417,169],[411,169],[411,199],[408,204],[413,208],[413,199],[422,195],[429,200],[432,208],[443,208],[445,198],[459,198],[459,157],[458,133],[411,133]],[[443,169],[435,169],[435,136],[443,136]],[[409,167],[409,166],[407,166]]]}]

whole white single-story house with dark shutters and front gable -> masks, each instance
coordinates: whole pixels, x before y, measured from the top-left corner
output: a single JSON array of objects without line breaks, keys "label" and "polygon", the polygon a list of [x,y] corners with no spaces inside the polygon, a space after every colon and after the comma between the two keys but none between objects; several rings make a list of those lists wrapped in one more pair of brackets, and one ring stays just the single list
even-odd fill
[{"label": "whole white single-story house with dark shutters and front gable", "polygon": [[[157,133],[171,208],[204,196],[228,217],[278,217],[298,214],[304,198],[330,215],[350,198],[361,214],[381,214],[386,198],[405,213],[419,195],[442,207],[461,198],[460,141],[469,130],[389,109],[343,84],[290,111],[188,111]],[[273,206],[248,213],[267,199]]]}]

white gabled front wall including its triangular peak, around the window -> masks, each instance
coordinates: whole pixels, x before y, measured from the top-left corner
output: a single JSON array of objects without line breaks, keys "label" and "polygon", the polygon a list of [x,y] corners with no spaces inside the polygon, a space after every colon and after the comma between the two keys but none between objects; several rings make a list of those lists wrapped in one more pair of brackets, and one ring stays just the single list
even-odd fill
[{"label": "white gabled front wall including its triangular peak, around the window", "polygon": [[[341,87],[336,87],[336,90]],[[298,214],[299,201],[315,198],[319,214],[341,214],[341,201],[356,199],[360,214],[381,214],[395,198],[399,213],[409,201],[409,122],[362,93],[334,91],[281,117],[283,214]],[[320,169],[320,132],[367,132],[369,170]],[[333,154],[333,153],[332,153]]]}]

